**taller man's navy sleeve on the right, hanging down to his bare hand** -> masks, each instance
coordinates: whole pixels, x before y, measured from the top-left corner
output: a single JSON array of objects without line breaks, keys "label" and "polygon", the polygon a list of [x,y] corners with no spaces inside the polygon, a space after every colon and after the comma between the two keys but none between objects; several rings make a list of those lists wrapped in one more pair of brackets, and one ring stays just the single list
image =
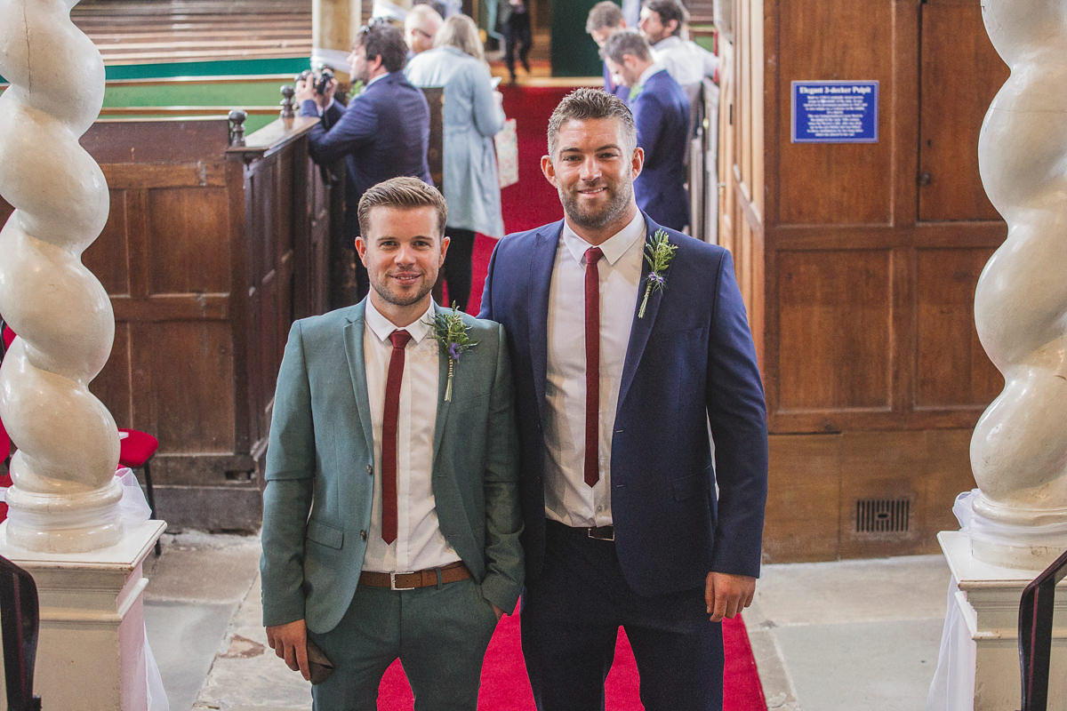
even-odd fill
[{"label": "taller man's navy sleeve on the right, hanging down to his bare hand", "polygon": [[767,411],[729,253],[717,284],[706,390],[719,489],[712,570],[758,577],[767,500]]}]

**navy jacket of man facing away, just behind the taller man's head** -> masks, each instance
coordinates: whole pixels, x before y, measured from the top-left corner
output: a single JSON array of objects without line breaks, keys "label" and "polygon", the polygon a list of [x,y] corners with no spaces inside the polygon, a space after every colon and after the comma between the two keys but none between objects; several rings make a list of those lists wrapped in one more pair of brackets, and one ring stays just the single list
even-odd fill
[{"label": "navy jacket of man facing away, just behind the taller man's head", "polygon": [[637,207],[653,220],[682,229],[689,224],[685,156],[689,147],[689,97],[666,70],[656,71],[630,102],[644,167],[634,181]]}]

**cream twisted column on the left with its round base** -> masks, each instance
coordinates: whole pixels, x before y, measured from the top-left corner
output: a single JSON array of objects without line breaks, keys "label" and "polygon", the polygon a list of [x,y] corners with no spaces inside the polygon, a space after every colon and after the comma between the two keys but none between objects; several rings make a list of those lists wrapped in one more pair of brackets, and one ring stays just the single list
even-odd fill
[{"label": "cream twisted column on the left with its round base", "polygon": [[7,542],[77,552],[122,535],[114,419],[89,391],[114,339],[111,302],[81,263],[108,187],[78,145],[103,102],[103,61],[69,18],[78,0],[0,0],[0,313],[18,334],[0,418],[18,447]]}]

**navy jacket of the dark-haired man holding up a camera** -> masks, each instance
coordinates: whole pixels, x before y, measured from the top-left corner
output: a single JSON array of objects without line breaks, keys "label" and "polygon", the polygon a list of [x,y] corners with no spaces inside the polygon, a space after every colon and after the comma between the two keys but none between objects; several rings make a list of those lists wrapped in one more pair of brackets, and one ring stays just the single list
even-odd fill
[{"label": "navy jacket of the dark-haired man holding up a camera", "polygon": [[[317,115],[314,103],[305,101],[301,113]],[[345,232],[349,238],[360,232],[355,208],[367,189],[404,175],[433,184],[426,158],[430,107],[423,90],[413,86],[403,71],[371,82],[348,108],[335,101],[308,140],[308,152],[316,163],[329,165],[345,159]]]}]

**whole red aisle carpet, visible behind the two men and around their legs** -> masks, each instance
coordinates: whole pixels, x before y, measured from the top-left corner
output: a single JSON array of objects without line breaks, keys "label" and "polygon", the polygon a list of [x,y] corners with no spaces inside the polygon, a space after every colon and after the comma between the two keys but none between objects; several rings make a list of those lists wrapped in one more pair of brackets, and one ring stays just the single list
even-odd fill
[{"label": "whole red aisle carpet, visible behind the two men and around their legs", "polygon": [[[504,226],[509,232],[531,229],[563,216],[559,196],[541,174],[541,156],[548,152],[548,116],[570,90],[503,85],[504,110],[514,117],[519,136],[519,182],[500,192]],[[489,258],[496,240],[478,235],[472,257],[473,284],[467,310],[477,313]],[[722,624],[726,648],[723,711],[766,711],[763,688],[740,618]],[[638,711],[637,666],[626,635],[620,630],[615,665],[607,678],[608,711]],[[379,711],[411,711],[411,688],[399,663],[393,664],[379,690]],[[534,695],[523,665],[519,616],[500,620],[485,652],[481,673],[480,711],[531,711]]]}]

